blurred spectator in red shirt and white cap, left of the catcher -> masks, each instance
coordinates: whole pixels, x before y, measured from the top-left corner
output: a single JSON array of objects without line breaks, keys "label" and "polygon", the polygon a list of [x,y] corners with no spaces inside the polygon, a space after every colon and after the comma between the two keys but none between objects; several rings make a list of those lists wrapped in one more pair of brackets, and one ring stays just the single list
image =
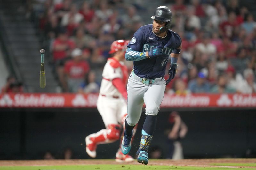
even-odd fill
[{"label": "blurred spectator in red shirt and white cap, left of the catcher", "polygon": [[64,70],[67,76],[69,92],[77,92],[84,80],[85,75],[90,70],[89,64],[82,60],[82,50],[76,48],[71,53],[72,60],[65,63]]}]

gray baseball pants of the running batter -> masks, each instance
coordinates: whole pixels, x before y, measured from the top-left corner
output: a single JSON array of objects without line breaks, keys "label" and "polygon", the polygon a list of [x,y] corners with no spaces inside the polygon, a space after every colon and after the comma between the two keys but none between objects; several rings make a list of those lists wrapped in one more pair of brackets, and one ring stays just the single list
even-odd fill
[{"label": "gray baseball pants of the running batter", "polygon": [[[144,79],[145,80],[145,79]],[[147,79],[146,79],[147,80]],[[166,82],[164,78],[154,79],[152,84],[143,84],[143,78],[138,77],[132,71],[127,85],[127,118],[130,126],[139,122],[142,107],[145,102],[146,115],[157,115],[160,104],[164,98]]]}]

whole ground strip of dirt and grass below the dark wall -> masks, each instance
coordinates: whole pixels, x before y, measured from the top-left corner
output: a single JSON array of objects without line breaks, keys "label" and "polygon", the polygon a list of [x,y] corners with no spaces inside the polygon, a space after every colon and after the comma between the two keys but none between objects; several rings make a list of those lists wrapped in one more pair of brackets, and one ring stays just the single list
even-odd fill
[{"label": "whole ground strip of dirt and grass below the dark wall", "polygon": [[[101,166],[104,164],[104,166]],[[134,169],[134,165],[138,169],[142,170],[144,168],[150,169],[233,169],[233,168],[245,168],[245,169],[256,169],[256,159],[183,159],[173,161],[170,159],[150,159],[147,166],[139,164],[137,162],[133,163],[116,163],[113,159],[74,159],[74,160],[2,160],[0,161],[0,170],[5,169],[17,169],[17,166],[34,166],[33,169],[39,170],[40,166],[58,167],[59,169],[80,169],[79,166],[83,165],[81,169]],[[113,165],[113,166],[112,166]],[[122,166],[121,166],[122,165]],[[51,167],[52,166],[52,167]],[[66,167],[65,167],[66,166]],[[95,166],[95,167],[94,167]],[[97,167],[96,167],[97,166]],[[99,167],[98,167],[99,166]],[[37,167],[37,168],[36,168]],[[62,168],[63,167],[63,168]],[[86,168],[87,167],[87,168]],[[182,168],[183,167],[183,168]],[[135,168],[135,169],[137,169]],[[22,168],[23,169],[23,168]],[[30,169],[30,168],[29,168]],[[48,169],[48,168],[47,168]],[[119,169],[119,168],[118,168]],[[42,169],[41,169],[42,170]]]}]

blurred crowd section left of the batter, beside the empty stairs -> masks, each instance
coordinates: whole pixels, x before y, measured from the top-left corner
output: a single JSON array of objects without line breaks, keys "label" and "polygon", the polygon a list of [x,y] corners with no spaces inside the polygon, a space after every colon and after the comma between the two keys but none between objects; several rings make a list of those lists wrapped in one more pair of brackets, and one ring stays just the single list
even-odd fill
[{"label": "blurred crowd section left of the batter, beside the empty stairs", "polygon": [[144,24],[135,6],[115,0],[41,0],[32,9],[62,92],[99,92],[111,43]]}]

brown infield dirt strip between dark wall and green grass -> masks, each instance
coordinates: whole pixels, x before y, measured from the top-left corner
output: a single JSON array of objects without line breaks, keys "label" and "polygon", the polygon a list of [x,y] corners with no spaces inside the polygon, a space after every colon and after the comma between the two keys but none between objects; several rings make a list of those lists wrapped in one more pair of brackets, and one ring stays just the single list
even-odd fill
[{"label": "brown infield dirt strip between dark wall and green grass", "polygon": [[[53,166],[53,165],[97,165],[97,164],[138,164],[117,163],[113,159],[73,159],[73,160],[1,160],[0,166]],[[222,166],[223,164],[253,164],[253,166]],[[198,166],[198,167],[229,167],[229,168],[255,168],[256,159],[150,159],[148,165],[167,166]],[[255,165],[255,166],[254,166]]]}]

